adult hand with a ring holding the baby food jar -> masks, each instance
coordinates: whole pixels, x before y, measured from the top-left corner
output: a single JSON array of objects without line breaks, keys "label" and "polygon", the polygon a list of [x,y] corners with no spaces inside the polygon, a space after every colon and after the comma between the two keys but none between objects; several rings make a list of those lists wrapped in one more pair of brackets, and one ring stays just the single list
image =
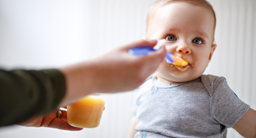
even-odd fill
[{"label": "adult hand with a ring holding the baby food jar", "polygon": [[61,130],[78,131],[83,128],[73,127],[67,122],[67,111],[63,110],[61,119],[57,119],[58,110],[51,112],[45,116],[33,117],[25,122],[19,123],[20,126],[27,127],[49,127]]}]

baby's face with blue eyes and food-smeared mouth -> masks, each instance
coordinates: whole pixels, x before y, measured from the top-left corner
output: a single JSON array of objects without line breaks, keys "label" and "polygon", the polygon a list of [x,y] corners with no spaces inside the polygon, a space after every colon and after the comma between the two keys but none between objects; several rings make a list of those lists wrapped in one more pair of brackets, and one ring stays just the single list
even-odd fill
[{"label": "baby's face with blue eyes and food-smeared mouth", "polygon": [[159,40],[158,46],[165,45],[167,52],[189,62],[177,66],[164,60],[156,72],[158,81],[191,81],[203,74],[216,48],[214,16],[203,7],[172,3],[157,10],[146,38]]}]

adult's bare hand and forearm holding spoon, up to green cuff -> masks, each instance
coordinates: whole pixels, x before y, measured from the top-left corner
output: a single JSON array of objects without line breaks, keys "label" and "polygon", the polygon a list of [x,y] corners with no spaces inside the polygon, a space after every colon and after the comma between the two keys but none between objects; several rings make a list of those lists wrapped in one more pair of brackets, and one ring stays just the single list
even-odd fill
[{"label": "adult's bare hand and forearm holding spoon, up to green cuff", "polygon": [[133,47],[150,45],[156,40],[141,40],[114,49],[95,59],[59,68],[66,78],[67,92],[60,106],[67,105],[91,93],[117,93],[137,88],[157,70],[166,50],[147,56],[132,56]]}]

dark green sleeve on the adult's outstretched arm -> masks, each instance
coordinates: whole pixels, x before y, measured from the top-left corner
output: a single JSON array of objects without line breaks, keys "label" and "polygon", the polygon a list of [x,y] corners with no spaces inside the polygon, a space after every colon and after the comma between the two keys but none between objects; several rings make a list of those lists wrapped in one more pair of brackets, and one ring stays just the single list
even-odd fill
[{"label": "dark green sleeve on the adult's outstretched arm", "polygon": [[58,70],[0,70],[0,126],[55,110],[65,91],[65,78]]}]

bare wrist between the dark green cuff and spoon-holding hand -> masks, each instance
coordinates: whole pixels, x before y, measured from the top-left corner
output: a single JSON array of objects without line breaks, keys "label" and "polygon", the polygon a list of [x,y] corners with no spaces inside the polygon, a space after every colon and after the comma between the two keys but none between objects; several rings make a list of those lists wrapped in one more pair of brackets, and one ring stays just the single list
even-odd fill
[{"label": "bare wrist between the dark green cuff and spoon-holding hand", "polygon": [[85,61],[74,65],[61,67],[59,71],[65,76],[66,95],[59,106],[66,106],[96,92],[94,79],[95,67],[91,61]]}]

